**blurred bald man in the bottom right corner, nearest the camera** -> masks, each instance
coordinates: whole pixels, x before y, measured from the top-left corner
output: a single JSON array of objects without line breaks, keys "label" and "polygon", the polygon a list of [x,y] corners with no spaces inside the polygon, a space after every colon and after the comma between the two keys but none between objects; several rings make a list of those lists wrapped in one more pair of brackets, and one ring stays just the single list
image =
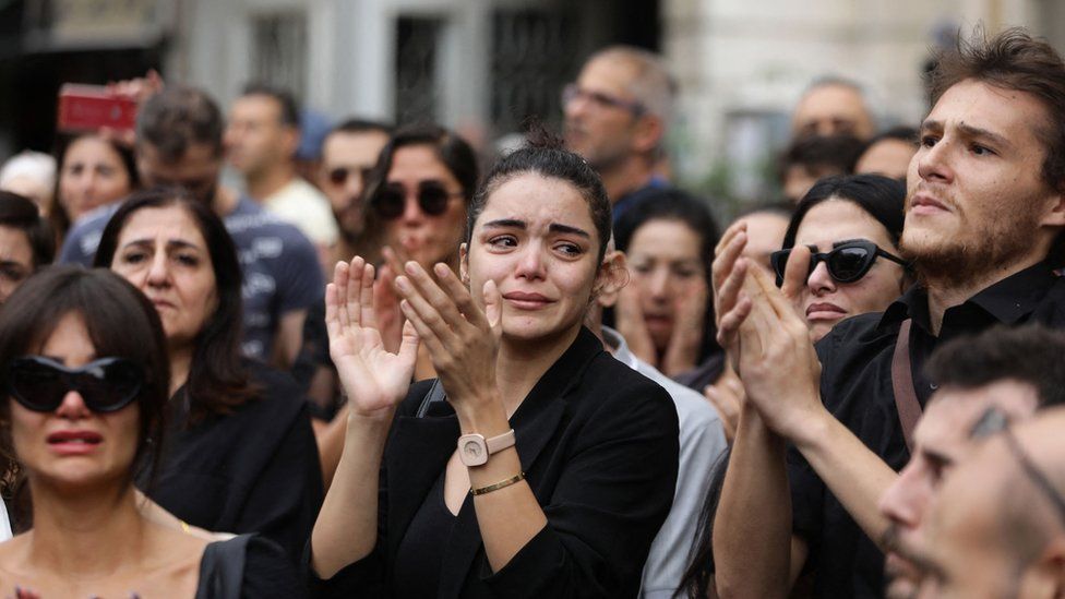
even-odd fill
[{"label": "blurred bald man in the bottom right corner, nearest the camera", "polygon": [[1065,594],[1065,408],[1005,428],[932,501],[913,558],[920,597]]}]

